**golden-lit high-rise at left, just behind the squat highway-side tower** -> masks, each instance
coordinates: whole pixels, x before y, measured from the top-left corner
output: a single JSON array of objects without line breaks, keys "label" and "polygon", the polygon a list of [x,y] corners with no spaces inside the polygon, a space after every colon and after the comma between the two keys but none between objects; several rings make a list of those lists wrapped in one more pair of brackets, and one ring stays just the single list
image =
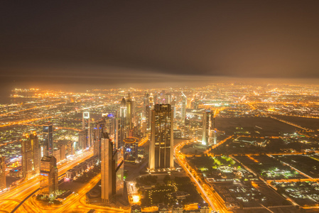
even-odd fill
[{"label": "golden-lit high-rise at left, just behind the squat highway-side tower", "polygon": [[24,133],[21,141],[22,175],[31,178],[40,173],[40,146],[36,132]]}]

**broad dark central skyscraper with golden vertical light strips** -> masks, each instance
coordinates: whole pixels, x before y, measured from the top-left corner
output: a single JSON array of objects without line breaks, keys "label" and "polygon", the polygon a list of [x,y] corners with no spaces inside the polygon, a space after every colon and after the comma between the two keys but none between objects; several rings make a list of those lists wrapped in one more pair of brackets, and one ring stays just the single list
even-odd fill
[{"label": "broad dark central skyscraper with golden vertical light strips", "polygon": [[149,170],[174,168],[173,113],[170,104],[156,104],[151,112]]}]

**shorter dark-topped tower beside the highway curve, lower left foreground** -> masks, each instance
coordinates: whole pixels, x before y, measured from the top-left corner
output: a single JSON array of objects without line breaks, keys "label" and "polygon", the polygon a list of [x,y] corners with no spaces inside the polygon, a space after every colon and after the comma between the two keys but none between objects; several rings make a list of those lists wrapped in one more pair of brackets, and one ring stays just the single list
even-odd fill
[{"label": "shorter dark-topped tower beside the highway curve, lower left foreground", "polygon": [[58,192],[58,167],[53,156],[44,156],[40,162],[40,194],[55,197]]}]

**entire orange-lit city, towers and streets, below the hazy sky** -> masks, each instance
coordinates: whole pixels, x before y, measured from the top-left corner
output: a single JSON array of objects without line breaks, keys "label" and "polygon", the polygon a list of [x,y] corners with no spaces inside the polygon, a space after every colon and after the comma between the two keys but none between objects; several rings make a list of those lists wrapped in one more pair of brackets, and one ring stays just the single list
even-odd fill
[{"label": "entire orange-lit city, towers and streets, below the hazy sky", "polygon": [[58,212],[80,203],[83,212],[314,208],[315,191],[304,190],[316,187],[318,175],[318,97],[315,85],[275,83],[16,88],[0,105],[0,203],[16,212],[41,202]]}]

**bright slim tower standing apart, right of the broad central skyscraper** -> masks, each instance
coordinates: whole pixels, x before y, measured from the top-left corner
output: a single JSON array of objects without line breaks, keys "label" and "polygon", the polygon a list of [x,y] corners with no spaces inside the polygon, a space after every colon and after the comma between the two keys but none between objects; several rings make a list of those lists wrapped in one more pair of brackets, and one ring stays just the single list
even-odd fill
[{"label": "bright slim tower standing apart, right of the broad central skyscraper", "polygon": [[202,144],[210,145],[212,143],[215,143],[214,111],[205,111],[202,116]]}]

